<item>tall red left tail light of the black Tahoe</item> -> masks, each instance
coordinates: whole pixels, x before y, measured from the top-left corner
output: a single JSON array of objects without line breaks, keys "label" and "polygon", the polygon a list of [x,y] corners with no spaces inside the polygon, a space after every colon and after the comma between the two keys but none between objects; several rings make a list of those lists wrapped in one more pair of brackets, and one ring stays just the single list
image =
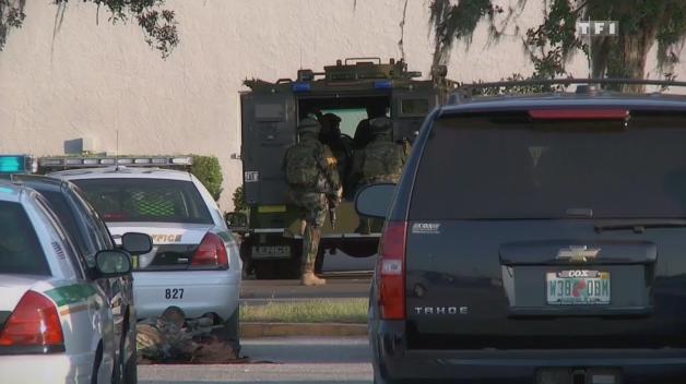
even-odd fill
[{"label": "tall red left tail light of the black Tahoe", "polygon": [[381,319],[405,319],[406,221],[388,221],[379,244],[379,309]]}]

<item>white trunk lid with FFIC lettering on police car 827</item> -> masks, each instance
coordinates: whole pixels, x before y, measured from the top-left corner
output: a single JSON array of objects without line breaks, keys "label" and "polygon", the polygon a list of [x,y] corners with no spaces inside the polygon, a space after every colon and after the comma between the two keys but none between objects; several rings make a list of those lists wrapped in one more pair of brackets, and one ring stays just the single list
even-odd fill
[{"label": "white trunk lid with FFIC lettering on police car 827", "polygon": [[121,236],[126,232],[147,233],[153,244],[200,244],[202,238],[212,229],[211,224],[186,223],[128,223],[109,221],[107,227],[115,241],[121,243]]}]

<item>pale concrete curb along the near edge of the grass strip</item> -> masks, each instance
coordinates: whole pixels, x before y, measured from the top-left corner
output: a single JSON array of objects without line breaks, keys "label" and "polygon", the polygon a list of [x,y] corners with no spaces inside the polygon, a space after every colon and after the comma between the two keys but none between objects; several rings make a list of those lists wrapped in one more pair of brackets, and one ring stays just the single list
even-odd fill
[{"label": "pale concrete curb along the near edge of the grass strip", "polygon": [[241,338],[291,336],[366,336],[367,324],[342,323],[240,323]]}]

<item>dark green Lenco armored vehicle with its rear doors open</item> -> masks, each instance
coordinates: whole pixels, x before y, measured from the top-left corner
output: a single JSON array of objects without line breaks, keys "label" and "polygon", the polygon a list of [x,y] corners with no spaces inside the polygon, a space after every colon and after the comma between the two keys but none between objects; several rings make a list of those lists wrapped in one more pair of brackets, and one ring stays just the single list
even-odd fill
[{"label": "dark green Lenco armored vehicle with its rear doors open", "polygon": [[[258,278],[287,278],[299,272],[301,223],[297,207],[288,200],[282,165],[286,149],[297,141],[298,122],[307,117],[323,122],[333,115],[340,123],[338,144],[331,145],[326,139],[322,142],[332,146],[338,158],[344,196],[334,225],[330,215],[322,228],[318,268],[333,255],[352,266],[359,265],[356,257],[376,254],[381,223],[359,230],[353,207],[360,187],[354,175],[355,158],[364,151],[365,140],[359,128],[368,127],[371,118],[390,117],[393,139],[410,147],[427,112],[443,101],[452,84],[445,79],[445,67],[431,72],[433,80],[418,80],[422,73],[407,71],[403,60],[356,58],[338,60],[323,72],[299,70],[296,80],[245,82],[250,91],[240,95],[241,158],[249,219],[232,213],[227,220],[237,231],[243,227],[243,257]],[[326,130],[326,123],[322,125]],[[374,265],[367,264],[369,268]]]}]

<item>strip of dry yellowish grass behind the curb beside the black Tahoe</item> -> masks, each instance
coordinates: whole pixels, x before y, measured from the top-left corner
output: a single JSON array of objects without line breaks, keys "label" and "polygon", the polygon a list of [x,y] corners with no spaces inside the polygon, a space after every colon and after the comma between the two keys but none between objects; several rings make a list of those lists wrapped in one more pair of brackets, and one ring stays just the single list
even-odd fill
[{"label": "strip of dry yellowish grass behind the curb beside the black Tahoe", "polygon": [[283,302],[240,305],[241,322],[366,324],[368,299]]}]

